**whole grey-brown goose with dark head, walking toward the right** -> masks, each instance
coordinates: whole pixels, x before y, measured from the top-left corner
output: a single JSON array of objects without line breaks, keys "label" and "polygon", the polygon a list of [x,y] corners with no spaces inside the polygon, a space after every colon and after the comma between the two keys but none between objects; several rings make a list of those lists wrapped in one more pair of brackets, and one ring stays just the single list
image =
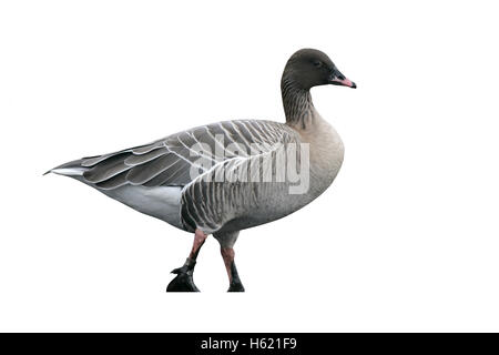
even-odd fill
[{"label": "whole grey-brown goose with dark head, walking toward the right", "polygon": [[356,88],[324,52],[302,49],[288,59],[281,80],[285,123],[216,122],[47,173],[73,178],[193,233],[189,256],[172,271],[166,292],[198,292],[194,266],[208,235],[220,243],[228,292],[244,292],[234,262],[240,231],[302,209],[333,183],[342,166],[343,142],[312,102],[310,89],[325,84]]}]

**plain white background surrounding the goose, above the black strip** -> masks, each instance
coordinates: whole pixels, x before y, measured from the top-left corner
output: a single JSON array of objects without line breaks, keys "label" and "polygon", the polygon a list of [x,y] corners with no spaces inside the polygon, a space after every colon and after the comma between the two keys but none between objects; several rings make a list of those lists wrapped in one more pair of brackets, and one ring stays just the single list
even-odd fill
[{"label": "plain white background surrounding the goose, above the black strip", "polygon": [[[2,1],[0,331],[499,331],[492,1]],[[42,173],[226,119],[284,121],[297,49],[346,156],[302,211],[243,231],[228,284],[166,294],[191,235]]]}]

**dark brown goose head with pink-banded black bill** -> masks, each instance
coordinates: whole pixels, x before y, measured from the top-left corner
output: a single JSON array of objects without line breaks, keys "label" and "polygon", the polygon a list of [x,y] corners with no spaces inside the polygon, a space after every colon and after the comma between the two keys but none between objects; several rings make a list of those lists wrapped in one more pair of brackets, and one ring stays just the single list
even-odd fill
[{"label": "dark brown goose head with pink-banded black bill", "polygon": [[343,85],[356,89],[355,82],[345,78],[324,52],[316,49],[301,49],[286,63],[283,82],[309,90],[318,85]]}]

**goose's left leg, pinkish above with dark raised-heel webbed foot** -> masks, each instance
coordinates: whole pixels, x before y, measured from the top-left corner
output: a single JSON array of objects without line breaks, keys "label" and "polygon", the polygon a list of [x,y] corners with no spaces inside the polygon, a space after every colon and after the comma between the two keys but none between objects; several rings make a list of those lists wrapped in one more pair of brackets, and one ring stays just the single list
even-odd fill
[{"label": "goose's left leg, pinkish above with dark raised-heel webbed foot", "polygon": [[182,267],[172,271],[172,274],[176,274],[176,276],[167,285],[166,292],[200,292],[194,284],[193,273],[194,266],[196,265],[197,254],[200,253],[201,246],[203,246],[206,237],[207,235],[202,231],[195,231],[191,253]]}]

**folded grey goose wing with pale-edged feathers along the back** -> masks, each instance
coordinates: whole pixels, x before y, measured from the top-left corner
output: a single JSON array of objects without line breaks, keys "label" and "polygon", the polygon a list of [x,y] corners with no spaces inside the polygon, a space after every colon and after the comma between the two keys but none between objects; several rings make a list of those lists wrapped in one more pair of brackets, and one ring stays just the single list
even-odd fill
[{"label": "folded grey goose wing with pale-edged feathers along the back", "polygon": [[84,158],[86,183],[101,190],[122,185],[185,186],[200,174],[234,158],[254,155],[254,144],[272,149],[276,143],[294,141],[287,125],[257,120],[212,123],[179,132],[150,144],[119,152]]}]

